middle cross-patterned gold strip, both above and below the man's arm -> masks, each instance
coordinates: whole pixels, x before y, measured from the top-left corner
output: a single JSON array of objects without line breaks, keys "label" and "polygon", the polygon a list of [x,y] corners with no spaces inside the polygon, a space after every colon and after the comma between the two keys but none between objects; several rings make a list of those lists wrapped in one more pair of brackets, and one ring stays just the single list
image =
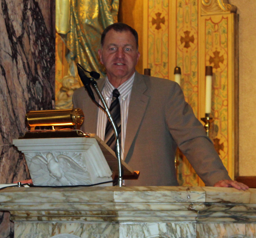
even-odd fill
[{"label": "middle cross-patterned gold strip, both above and below the man's arm", "polygon": [[[194,0],[178,1],[176,4],[176,62],[181,68],[181,87],[185,100],[193,108],[195,115],[199,114],[199,29],[198,8],[199,3]],[[197,186],[199,178],[181,154],[177,153],[179,184]]]}]

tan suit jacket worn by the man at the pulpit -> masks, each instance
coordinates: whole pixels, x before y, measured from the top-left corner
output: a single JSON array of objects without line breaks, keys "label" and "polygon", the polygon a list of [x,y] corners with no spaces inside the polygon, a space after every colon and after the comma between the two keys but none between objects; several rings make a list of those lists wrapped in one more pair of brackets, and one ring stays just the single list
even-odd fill
[{"label": "tan suit jacket worn by the man at the pulpit", "polygon": [[[102,89],[104,79],[98,81]],[[84,112],[84,132],[96,133],[98,107],[84,87],[73,96],[74,107]],[[178,185],[175,171],[176,148],[183,154],[208,186],[230,179],[211,140],[191,107],[185,102],[180,86],[170,80],[136,72],[132,87],[124,147],[125,162],[140,171],[138,180],[126,185]]]}]

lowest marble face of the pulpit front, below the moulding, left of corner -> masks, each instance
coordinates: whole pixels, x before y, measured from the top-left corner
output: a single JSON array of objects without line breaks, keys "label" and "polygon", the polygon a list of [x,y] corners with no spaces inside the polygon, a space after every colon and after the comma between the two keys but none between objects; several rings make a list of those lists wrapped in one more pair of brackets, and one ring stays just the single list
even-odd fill
[{"label": "lowest marble face of the pulpit front, below the moulding, left of corner", "polygon": [[[178,223],[29,223],[15,224],[19,238],[72,234],[81,238],[172,237],[196,238],[196,224]],[[15,236],[16,237],[16,236]]]}]

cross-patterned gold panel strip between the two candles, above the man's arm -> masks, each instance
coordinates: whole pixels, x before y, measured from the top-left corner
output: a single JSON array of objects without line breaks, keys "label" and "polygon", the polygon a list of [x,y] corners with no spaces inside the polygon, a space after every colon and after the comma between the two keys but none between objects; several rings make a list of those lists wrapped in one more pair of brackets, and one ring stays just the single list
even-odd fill
[{"label": "cross-patterned gold panel strip between the two candles, above the man's arm", "polygon": [[198,116],[198,3],[179,1],[176,17],[176,62],[186,101]]}]

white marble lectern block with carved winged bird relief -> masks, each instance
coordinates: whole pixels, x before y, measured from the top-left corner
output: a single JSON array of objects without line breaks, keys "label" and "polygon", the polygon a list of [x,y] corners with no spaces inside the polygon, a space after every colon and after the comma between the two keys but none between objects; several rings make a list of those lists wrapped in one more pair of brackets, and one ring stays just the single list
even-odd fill
[{"label": "white marble lectern block with carved winged bird relief", "polygon": [[112,180],[95,138],[15,139],[13,143],[25,154],[34,185],[88,185]]}]

